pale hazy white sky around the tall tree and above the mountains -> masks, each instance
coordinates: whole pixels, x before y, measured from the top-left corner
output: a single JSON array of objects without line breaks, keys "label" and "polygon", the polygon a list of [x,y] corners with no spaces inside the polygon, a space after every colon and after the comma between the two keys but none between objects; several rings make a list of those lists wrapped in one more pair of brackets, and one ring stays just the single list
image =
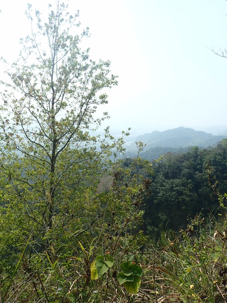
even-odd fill
[{"label": "pale hazy white sky around the tall tree and above the mountains", "polygon": [[[30,33],[25,0],[0,1],[0,56],[13,61]],[[65,1],[67,2],[67,1]],[[30,0],[45,15],[54,0]],[[114,132],[143,134],[179,126],[227,125],[225,0],[71,0],[81,29],[90,28],[90,57],[110,59],[118,86],[109,92]],[[225,15],[226,14],[226,15]]]}]

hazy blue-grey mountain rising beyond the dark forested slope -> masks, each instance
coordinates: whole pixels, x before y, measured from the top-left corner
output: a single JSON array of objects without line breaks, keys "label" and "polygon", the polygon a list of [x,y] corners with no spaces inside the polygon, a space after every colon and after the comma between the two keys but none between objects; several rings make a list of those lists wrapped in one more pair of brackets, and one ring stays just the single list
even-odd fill
[{"label": "hazy blue-grey mountain rising beyond the dark forested slope", "polygon": [[[223,138],[227,138],[227,136],[215,136],[210,133],[195,131],[192,128],[178,127],[164,132],[154,131],[150,134],[140,135],[136,138],[136,142],[142,141],[146,144],[141,157],[153,160],[168,151],[177,153],[185,151],[185,148],[190,146],[206,148],[216,145]],[[127,146],[126,156],[133,157],[136,151],[136,145],[133,143]]]}]

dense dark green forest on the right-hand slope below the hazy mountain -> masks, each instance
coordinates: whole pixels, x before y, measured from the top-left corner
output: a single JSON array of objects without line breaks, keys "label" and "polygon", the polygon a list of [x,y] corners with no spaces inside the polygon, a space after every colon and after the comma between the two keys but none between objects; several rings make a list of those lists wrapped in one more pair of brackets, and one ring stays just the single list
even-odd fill
[{"label": "dense dark green forest on the right-hand slope below the hazy mountain", "polygon": [[161,161],[154,163],[154,175],[148,176],[152,179],[151,194],[144,206],[147,234],[157,240],[165,228],[185,229],[188,218],[199,212],[205,217],[211,212],[225,215],[225,211],[218,210],[222,204],[212,186],[217,193],[225,191],[226,154],[224,139],[212,148],[199,150],[193,147],[178,155],[167,153]]}]

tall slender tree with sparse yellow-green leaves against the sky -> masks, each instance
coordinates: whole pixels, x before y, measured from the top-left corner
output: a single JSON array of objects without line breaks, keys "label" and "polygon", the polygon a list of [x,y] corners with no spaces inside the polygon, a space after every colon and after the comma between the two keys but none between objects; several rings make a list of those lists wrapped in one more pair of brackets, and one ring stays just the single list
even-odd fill
[{"label": "tall slender tree with sparse yellow-green leaves against the sky", "polygon": [[76,205],[83,211],[87,198],[81,201],[81,193],[92,195],[84,193],[84,184],[95,184],[123,141],[115,141],[109,128],[104,139],[94,136],[108,117],[105,112],[96,118],[97,106],[107,103],[106,89],[117,85],[117,77],[110,74],[110,61],[94,62],[89,49],[81,50],[88,28],[72,35],[79,12],[70,15],[57,1],[55,9],[49,5],[47,22],[31,5],[26,15],[31,35],[21,38],[20,56],[6,71],[9,82],[1,81],[1,205],[14,224],[17,210],[18,220],[24,218],[21,233],[29,225],[27,235],[32,228],[44,249],[57,215],[64,225]]}]

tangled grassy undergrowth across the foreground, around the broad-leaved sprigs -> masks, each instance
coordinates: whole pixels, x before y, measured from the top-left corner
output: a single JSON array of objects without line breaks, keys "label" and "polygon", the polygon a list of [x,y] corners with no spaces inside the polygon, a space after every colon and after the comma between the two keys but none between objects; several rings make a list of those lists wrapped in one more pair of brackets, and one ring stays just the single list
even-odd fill
[{"label": "tangled grassy undergrowth across the foreground, around the broad-leaved sprigs", "polygon": [[[51,255],[22,257],[11,280],[2,272],[0,302],[226,302],[226,221],[216,221],[211,233],[203,219],[195,221],[178,237],[163,234],[156,244],[142,232],[120,235],[113,266],[97,280],[90,278],[100,253],[97,239],[81,245],[77,254],[63,245],[56,256],[53,245]],[[106,245],[101,250],[110,253]],[[119,285],[123,261],[143,269],[137,294]]]}]

